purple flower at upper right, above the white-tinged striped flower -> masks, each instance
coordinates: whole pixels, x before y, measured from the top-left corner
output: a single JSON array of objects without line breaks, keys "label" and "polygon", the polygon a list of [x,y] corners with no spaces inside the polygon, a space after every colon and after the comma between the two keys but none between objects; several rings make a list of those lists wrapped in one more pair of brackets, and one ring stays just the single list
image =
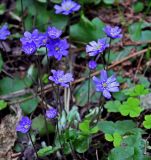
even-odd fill
[{"label": "purple flower at upper right, above the white-tinged striped flower", "polygon": [[106,33],[106,35],[110,38],[122,38],[122,34],[121,34],[121,29],[116,26],[116,27],[111,27],[111,26],[106,26],[104,29],[104,32]]}]

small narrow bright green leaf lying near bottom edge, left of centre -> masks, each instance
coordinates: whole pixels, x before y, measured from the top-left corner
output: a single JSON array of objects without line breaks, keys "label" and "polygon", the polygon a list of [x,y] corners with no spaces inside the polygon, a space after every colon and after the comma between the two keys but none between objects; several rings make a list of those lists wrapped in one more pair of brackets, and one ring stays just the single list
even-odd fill
[{"label": "small narrow bright green leaf lying near bottom edge, left of centre", "polygon": [[44,147],[42,149],[40,149],[37,154],[39,157],[46,157],[54,152],[56,152],[58,150],[57,147],[52,147],[52,146],[48,146],[48,147]]}]

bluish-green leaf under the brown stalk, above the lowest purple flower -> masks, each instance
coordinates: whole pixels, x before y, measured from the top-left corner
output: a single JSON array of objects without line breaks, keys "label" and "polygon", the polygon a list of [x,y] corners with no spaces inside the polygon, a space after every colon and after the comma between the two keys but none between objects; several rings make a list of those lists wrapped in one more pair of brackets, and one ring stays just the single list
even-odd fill
[{"label": "bluish-green leaf under the brown stalk, above the lowest purple flower", "polygon": [[37,108],[39,103],[38,98],[32,98],[20,104],[21,109],[23,110],[24,114],[30,114]]}]

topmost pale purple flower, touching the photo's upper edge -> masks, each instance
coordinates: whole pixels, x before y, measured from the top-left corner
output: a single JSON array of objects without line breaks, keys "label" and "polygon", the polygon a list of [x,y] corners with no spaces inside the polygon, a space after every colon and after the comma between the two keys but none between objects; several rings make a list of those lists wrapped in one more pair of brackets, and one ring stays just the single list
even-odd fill
[{"label": "topmost pale purple flower, touching the photo's upper edge", "polygon": [[64,14],[69,15],[70,13],[73,13],[75,11],[78,11],[80,9],[80,5],[72,0],[63,0],[60,5],[55,5],[55,13],[56,14]]}]

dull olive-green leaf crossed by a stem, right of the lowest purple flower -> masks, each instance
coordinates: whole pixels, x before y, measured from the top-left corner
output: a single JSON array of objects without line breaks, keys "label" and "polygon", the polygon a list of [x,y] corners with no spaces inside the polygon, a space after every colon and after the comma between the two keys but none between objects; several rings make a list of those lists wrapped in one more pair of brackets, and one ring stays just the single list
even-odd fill
[{"label": "dull olive-green leaf crossed by a stem, right of the lowest purple flower", "polygon": [[[48,127],[49,133],[54,132],[54,126],[51,124],[51,122],[47,122],[47,127]],[[32,120],[32,128],[35,130],[38,130],[39,134],[41,136],[44,136],[47,132],[44,116],[39,115],[39,116],[35,117]]]}]

